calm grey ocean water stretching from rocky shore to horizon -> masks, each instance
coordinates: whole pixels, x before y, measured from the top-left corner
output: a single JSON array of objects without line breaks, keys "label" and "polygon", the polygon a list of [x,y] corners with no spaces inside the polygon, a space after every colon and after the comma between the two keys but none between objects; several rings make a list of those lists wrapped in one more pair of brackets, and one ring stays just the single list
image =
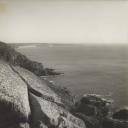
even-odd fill
[{"label": "calm grey ocean water stretching from rocky shore to horizon", "polygon": [[50,77],[75,95],[96,93],[128,106],[128,46],[82,44],[22,44],[17,51],[63,72]]}]

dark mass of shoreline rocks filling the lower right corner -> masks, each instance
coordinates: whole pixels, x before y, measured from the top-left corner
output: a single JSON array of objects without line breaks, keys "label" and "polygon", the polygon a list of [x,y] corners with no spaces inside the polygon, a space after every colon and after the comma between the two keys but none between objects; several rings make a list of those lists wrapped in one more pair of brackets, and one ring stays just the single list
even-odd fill
[{"label": "dark mass of shoreline rocks filling the lower right corner", "polygon": [[87,128],[128,128],[128,110],[111,110],[112,100],[86,94],[75,105],[74,115],[84,120]]}]

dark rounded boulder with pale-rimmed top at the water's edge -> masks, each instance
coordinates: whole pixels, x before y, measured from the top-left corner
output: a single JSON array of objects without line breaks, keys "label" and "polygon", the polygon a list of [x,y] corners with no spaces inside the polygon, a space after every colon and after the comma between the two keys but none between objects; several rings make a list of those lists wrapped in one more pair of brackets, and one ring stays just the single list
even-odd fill
[{"label": "dark rounded boulder with pale-rimmed top at the water's edge", "polygon": [[101,95],[87,94],[76,103],[76,112],[85,114],[86,116],[107,116],[111,101],[102,98]]}]

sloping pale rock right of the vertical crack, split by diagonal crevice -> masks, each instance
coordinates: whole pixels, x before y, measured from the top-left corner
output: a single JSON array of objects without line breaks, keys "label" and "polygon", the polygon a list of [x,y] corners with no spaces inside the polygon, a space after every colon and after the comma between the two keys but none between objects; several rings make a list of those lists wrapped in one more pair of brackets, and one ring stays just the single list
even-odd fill
[{"label": "sloping pale rock right of the vertical crack, split by diagonal crevice", "polygon": [[23,68],[13,67],[13,69],[28,86],[33,125],[41,121],[50,128],[59,125],[63,125],[62,128],[85,128],[82,120],[64,108],[61,98],[47,86],[46,81]]}]

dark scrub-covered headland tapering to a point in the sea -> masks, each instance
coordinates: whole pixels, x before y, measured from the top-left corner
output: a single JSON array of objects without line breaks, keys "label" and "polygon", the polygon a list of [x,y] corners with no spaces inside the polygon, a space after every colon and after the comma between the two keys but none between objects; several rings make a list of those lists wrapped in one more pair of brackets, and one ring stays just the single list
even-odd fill
[{"label": "dark scrub-covered headland tapering to a point in the sea", "polygon": [[28,59],[25,55],[17,52],[11,45],[4,42],[0,42],[0,58],[12,65],[23,67],[38,76],[61,74],[59,72],[55,72],[54,69],[44,68],[42,63]]}]

